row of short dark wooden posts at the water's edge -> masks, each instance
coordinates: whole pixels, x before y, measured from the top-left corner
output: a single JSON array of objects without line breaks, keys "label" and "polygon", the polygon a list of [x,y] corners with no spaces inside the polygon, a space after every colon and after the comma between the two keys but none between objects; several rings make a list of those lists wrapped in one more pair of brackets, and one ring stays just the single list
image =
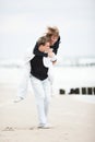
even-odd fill
[{"label": "row of short dark wooden posts at the water's edge", "polygon": [[59,90],[59,94],[63,95],[63,94],[83,94],[83,95],[95,95],[95,86],[94,87],[72,87],[70,88],[70,91],[67,93],[64,88],[60,88]]}]

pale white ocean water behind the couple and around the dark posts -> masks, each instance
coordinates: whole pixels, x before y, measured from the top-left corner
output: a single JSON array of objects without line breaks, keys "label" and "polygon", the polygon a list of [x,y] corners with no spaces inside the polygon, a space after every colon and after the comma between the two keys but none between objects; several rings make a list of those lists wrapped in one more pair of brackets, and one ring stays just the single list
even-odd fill
[{"label": "pale white ocean water behind the couple and around the dark posts", "polygon": [[[17,87],[22,79],[22,72],[23,68],[19,66],[0,67],[0,85],[9,84]],[[32,86],[29,85],[29,87]],[[95,67],[55,66],[52,84],[55,94],[59,94],[59,90],[64,90],[66,94],[70,94],[71,88],[81,90],[82,87],[95,87]],[[75,94],[75,92],[73,93]]]}]

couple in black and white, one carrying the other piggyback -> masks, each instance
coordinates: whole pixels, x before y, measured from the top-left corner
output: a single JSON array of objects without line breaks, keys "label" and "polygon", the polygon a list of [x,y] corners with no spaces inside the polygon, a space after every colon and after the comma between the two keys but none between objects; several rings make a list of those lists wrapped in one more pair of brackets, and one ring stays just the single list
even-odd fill
[{"label": "couple in black and white, one carrying the other piggyback", "polygon": [[19,88],[19,98],[15,100],[17,103],[24,99],[27,92],[28,78],[31,78],[38,111],[38,128],[41,129],[49,128],[47,115],[54,79],[52,66],[57,61],[56,55],[59,44],[59,29],[57,27],[47,27],[46,34],[38,38],[33,55],[31,54],[26,58],[24,78]]}]

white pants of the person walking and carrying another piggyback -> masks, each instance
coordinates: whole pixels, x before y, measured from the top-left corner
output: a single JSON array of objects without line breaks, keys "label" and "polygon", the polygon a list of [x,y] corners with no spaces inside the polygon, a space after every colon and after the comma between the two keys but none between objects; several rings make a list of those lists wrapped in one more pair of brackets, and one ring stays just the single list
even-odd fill
[{"label": "white pants of the person walking and carrying another piggyback", "polygon": [[32,75],[31,82],[36,98],[39,125],[45,125],[47,123],[47,115],[51,97],[50,81],[48,79],[40,81]]}]

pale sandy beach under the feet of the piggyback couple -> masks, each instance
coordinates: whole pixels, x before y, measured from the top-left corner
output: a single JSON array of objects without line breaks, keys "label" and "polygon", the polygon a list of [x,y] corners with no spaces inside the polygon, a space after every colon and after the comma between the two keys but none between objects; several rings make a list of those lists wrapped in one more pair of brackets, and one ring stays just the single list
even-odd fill
[{"label": "pale sandy beach under the feet of the piggyback couple", "polygon": [[0,142],[95,142],[95,95],[54,95],[48,116],[52,127],[38,129],[33,92],[14,103],[20,73],[15,69],[1,73],[5,74],[0,75]]}]

